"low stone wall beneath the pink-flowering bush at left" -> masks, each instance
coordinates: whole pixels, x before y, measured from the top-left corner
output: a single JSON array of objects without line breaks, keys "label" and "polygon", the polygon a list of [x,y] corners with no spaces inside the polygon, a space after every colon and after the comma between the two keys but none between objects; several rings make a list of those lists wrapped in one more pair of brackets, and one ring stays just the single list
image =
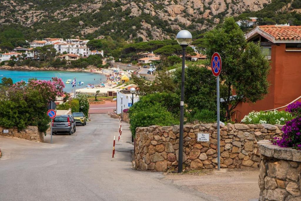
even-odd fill
[{"label": "low stone wall beneath the pink-flowering bush at left", "polygon": [[6,137],[17,137],[26,140],[32,140],[36,142],[44,141],[44,133],[39,132],[38,127],[36,126],[28,126],[23,130],[18,131],[17,127],[9,128],[8,133],[3,133],[3,129],[0,127],[0,135]]}]

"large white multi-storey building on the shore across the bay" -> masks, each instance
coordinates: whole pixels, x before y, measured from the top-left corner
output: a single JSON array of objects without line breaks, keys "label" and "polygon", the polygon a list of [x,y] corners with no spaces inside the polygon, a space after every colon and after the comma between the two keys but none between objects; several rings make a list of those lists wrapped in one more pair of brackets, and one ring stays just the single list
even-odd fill
[{"label": "large white multi-storey building on the shore across the bay", "polygon": [[67,52],[67,54],[76,54],[84,57],[90,54],[89,48],[82,44],[55,42],[53,45],[54,49],[61,54]]}]

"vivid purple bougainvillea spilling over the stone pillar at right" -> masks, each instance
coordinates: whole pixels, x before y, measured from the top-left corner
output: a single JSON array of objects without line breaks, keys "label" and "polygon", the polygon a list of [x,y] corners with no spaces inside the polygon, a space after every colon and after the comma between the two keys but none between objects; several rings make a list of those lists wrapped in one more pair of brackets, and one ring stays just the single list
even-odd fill
[{"label": "vivid purple bougainvillea spilling over the stone pillar at right", "polygon": [[301,102],[290,104],[286,111],[290,112],[294,118],[282,127],[282,137],[275,137],[271,142],[280,147],[293,147],[301,150]]}]

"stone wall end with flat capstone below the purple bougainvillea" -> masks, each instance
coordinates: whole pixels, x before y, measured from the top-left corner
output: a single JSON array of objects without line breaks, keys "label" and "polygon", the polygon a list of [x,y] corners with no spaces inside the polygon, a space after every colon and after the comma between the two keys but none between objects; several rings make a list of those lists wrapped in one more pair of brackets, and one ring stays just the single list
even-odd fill
[{"label": "stone wall end with flat capstone below the purple bougainvillea", "polygon": [[260,201],[300,201],[301,151],[258,142]]}]

